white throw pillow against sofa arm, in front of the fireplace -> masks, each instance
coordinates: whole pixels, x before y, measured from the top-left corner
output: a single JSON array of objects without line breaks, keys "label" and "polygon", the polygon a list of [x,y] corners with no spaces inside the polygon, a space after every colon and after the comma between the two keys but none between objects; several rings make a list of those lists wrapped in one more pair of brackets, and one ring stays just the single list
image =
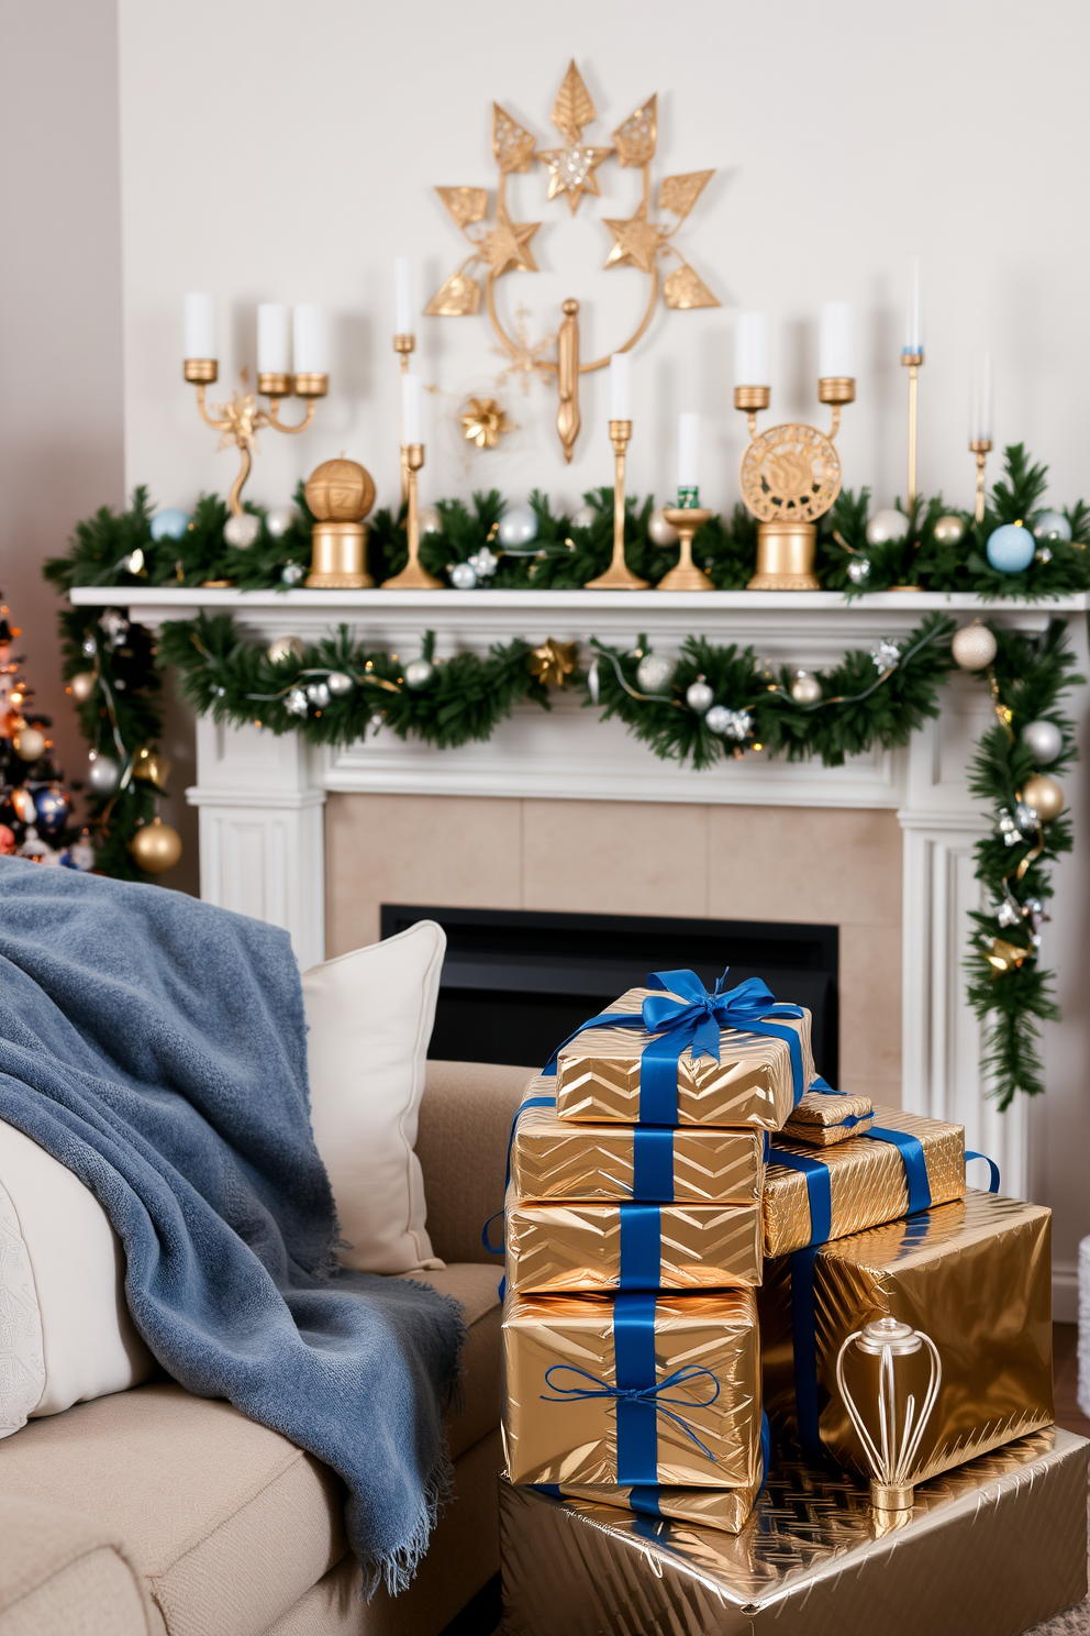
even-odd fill
[{"label": "white throw pillow against sofa arm, in front of the fireplace", "polygon": [[356,1271],[444,1265],[413,1152],[444,951],[443,928],[417,921],[302,975],[314,1140],[351,1247],[340,1260]]}]

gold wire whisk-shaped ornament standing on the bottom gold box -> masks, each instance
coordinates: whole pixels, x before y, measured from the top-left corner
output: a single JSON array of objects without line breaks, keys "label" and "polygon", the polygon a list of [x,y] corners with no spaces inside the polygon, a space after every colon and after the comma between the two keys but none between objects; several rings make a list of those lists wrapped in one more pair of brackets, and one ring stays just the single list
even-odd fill
[{"label": "gold wire whisk-shaped ornament standing on the bottom gold box", "polygon": [[[878,1391],[874,1402],[866,1405],[866,1417],[845,1381],[845,1356],[853,1346],[863,1358],[878,1358]],[[923,1402],[917,1405],[917,1396],[907,1391],[902,1374],[907,1374],[905,1360],[917,1358],[923,1348],[930,1353],[930,1368]],[[837,1386],[871,1467],[871,1505],[876,1512],[912,1508],[912,1474],[941,1381],[943,1364],[935,1342],[900,1319],[866,1324],[848,1335],[837,1353]],[[874,1420],[876,1433],[871,1430]]]}]

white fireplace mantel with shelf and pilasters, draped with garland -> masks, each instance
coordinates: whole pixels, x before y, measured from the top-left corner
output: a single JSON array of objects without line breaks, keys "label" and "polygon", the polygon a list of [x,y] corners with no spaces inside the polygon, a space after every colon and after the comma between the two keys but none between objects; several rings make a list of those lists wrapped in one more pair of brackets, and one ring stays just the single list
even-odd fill
[{"label": "white fireplace mantel with shelf and pilasters, draped with garland", "polygon": [[[974,615],[1020,630],[1051,617],[1087,672],[1090,597],[995,604],[972,596],[887,592],[855,602],[832,592],[608,591],[163,591],[78,587],[77,605],[121,605],[144,625],[229,612],[253,640],[315,640],[346,625],[353,636],[409,658],[435,631],[436,656],[485,653],[525,636],[539,643],[614,646],[647,636],[677,653],[686,635],[753,646],[773,666],[829,667],[845,648],[905,636],[930,610]],[[598,721],[575,697],[554,708],[520,707],[484,744],[435,751],[377,731],[346,749],[309,749],[297,735],[198,721],[201,895],[288,928],[301,965],[325,957],[322,807],[328,790],[564,800],[703,802],[896,810],[904,831],[902,1094],[905,1108],[966,1126],[972,1147],[992,1153],[1003,1191],[1026,1193],[1026,1117],[998,1116],[981,1080],[981,1029],[964,1001],[969,911],[979,903],[974,843],[987,813],[972,802],[966,767],[990,703],[979,679],[951,676],[941,715],[905,749],[873,751],[845,767],[747,754],[709,772],[660,762],[621,723]],[[1082,712],[1080,712],[1082,715]]]}]

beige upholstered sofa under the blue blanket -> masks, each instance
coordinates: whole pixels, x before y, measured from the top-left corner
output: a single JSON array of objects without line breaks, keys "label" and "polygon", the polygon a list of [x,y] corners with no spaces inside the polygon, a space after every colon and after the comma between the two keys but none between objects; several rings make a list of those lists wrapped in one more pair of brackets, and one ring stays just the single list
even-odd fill
[{"label": "beige upholstered sofa under the blue blanket", "polygon": [[456,1495],[412,1589],[360,1597],[342,1485],[230,1404],[160,1379],[0,1441],[0,1636],[436,1636],[498,1569],[502,1206],[528,1068],[428,1063],[428,1232],[469,1337],[448,1417]]}]

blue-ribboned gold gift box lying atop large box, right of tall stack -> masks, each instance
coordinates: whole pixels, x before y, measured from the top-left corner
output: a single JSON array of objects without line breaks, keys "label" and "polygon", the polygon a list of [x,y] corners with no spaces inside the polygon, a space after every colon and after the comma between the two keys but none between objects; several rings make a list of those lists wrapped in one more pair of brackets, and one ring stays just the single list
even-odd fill
[{"label": "blue-ribboned gold gift box lying atop large box, right of tall stack", "polygon": [[[917,1137],[923,1148],[931,1204],[948,1204],[966,1191],[966,1134],[961,1126],[907,1114],[899,1108],[876,1108],[874,1124],[904,1130]],[[776,1152],[814,1158],[806,1142],[773,1137],[762,1211],[765,1217],[765,1255],[789,1255],[811,1242],[811,1201],[806,1175],[776,1163]],[[900,1150],[892,1142],[853,1137],[824,1148],[820,1162],[829,1166],[832,1198],[830,1238],[847,1238],[864,1227],[897,1220],[909,1209],[909,1181]]]}]

